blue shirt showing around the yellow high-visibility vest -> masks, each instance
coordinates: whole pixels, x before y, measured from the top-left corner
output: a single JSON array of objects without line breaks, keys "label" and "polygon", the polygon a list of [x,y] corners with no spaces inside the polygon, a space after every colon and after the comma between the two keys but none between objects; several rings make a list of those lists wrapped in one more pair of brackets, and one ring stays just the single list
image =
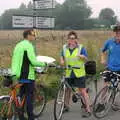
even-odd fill
[{"label": "blue shirt showing around the yellow high-visibility vest", "polygon": [[[74,48],[74,49],[75,49],[75,48]],[[74,49],[69,49],[70,54],[72,54],[72,52],[74,51]],[[82,47],[82,49],[81,49],[81,51],[80,51],[80,55],[84,55],[84,56],[88,57],[87,50],[86,50],[84,47]],[[64,58],[63,50],[62,50],[62,52],[61,52],[61,56]],[[73,71],[71,72],[70,78],[76,78],[76,76],[75,76],[75,74],[74,74]]]}]

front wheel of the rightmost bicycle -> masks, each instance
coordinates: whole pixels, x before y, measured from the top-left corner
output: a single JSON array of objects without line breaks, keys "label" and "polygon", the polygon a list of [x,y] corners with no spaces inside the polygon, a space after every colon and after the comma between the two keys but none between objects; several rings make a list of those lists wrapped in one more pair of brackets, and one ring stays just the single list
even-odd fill
[{"label": "front wheel of the rightmost bicycle", "polygon": [[93,103],[93,115],[96,118],[103,118],[108,114],[111,105],[113,104],[114,96],[114,90],[109,86],[102,88],[96,95]]}]

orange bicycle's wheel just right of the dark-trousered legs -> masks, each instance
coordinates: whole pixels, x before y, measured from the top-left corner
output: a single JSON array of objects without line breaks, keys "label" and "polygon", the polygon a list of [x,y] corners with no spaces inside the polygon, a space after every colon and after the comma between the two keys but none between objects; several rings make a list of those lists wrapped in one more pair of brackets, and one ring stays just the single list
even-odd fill
[{"label": "orange bicycle's wheel just right of the dark-trousered legs", "polygon": [[36,85],[33,100],[33,114],[35,118],[42,114],[47,102],[46,99],[45,88],[42,85]]}]

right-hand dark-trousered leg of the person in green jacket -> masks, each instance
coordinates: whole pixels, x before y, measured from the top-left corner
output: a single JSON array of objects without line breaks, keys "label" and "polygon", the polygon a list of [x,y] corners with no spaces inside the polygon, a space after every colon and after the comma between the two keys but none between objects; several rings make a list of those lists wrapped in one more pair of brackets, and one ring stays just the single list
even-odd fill
[{"label": "right-hand dark-trousered leg of the person in green jacket", "polygon": [[27,100],[27,114],[28,114],[28,120],[34,120],[34,115],[33,115],[33,92],[35,89],[35,84],[34,82],[32,83],[27,83],[26,86],[26,100]]}]

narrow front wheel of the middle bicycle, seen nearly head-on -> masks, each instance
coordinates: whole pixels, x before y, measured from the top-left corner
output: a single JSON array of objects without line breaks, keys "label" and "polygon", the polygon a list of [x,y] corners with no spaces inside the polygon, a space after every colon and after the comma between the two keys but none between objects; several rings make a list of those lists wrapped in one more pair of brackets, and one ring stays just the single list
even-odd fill
[{"label": "narrow front wheel of the middle bicycle, seen nearly head-on", "polygon": [[54,119],[60,120],[62,117],[65,102],[65,85],[61,84],[54,101]]}]

